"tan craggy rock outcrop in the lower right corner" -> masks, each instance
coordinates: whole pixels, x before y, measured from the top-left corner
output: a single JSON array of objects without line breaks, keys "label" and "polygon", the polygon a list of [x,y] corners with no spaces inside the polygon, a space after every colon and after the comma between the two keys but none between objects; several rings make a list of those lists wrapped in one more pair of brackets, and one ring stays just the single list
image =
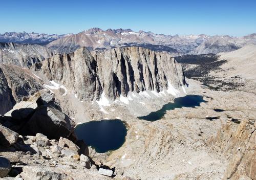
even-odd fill
[{"label": "tan craggy rock outcrop in the lower right corner", "polygon": [[256,122],[228,122],[208,144],[229,158],[223,179],[256,179]]}]

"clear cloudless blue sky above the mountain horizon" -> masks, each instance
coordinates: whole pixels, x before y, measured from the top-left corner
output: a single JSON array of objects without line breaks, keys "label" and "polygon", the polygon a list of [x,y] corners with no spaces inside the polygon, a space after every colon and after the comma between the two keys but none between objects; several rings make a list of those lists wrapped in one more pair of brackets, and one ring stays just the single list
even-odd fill
[{"label": "clear cloudless blue sky above the mountain horizon", "polygon": [[78,33],[98,27],[162,34],[256,33],[256,0],[0,1],[0,33]]}]

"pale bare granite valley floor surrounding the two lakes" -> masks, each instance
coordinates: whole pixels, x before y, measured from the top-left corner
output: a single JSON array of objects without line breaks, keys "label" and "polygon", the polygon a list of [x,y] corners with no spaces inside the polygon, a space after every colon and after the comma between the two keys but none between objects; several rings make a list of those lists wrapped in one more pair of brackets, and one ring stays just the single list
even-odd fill
[{"label": "pale bare granite valley floor surrounding the two lakes", "polygon": [[[113,103],[104,107],[108,114],[100,113],[101,117],[98,116],[99,111],[93,108],[87,107],[84,115],[77,110],[75,117],[91,117],[94,120],[118,118],[129,127],[121,148],[106,153],[90,149],[92,159],[116,167],[119,174],[137,179],[222,179],[233,154],[216,150],[218,147],[209,145],[208,140],[216,137],[218,130],[231,118],[239,121],[254,119],[256,96],[243,91],[212,91],[198,81],[188,79],[187,82],[189,87],[186,93],[201,95],[207,102],[195,108],[167,111],[164,118],[155,122],[139,120],[137,116],[160,109],[165,103],[173,101],[172,96],[154,100],[154,104],[149,97],[144,100],[146,108],[140,104],[142,107],[137,111],[135,104]],[[207,116],[214,120],[206,119]],[[86,122],[86,118],[83,120]]]}]

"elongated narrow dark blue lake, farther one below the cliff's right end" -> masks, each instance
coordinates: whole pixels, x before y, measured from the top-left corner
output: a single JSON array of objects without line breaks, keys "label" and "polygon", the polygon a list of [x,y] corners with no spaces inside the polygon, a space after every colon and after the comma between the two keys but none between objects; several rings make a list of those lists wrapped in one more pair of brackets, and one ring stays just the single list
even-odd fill
[{"label": "elongated narrow dark blue lake, farther one below the cliff's right end", "polygon": [[198,96],[198,95],[187,95],[184,97],[175,98],[174,102],[170,102],[163,105],[163,107],[160,110],[151,112],[147,116],[140,116],[138,117],[138,119],[143,119],[146,121],[157,121],[164,117],[166,110],[173,110],[175,108],[181,108],[181,107],[196,107],[196,106],[200,106],[201,102],[207,102],[207,101],[203,100],[203,96]]}]

